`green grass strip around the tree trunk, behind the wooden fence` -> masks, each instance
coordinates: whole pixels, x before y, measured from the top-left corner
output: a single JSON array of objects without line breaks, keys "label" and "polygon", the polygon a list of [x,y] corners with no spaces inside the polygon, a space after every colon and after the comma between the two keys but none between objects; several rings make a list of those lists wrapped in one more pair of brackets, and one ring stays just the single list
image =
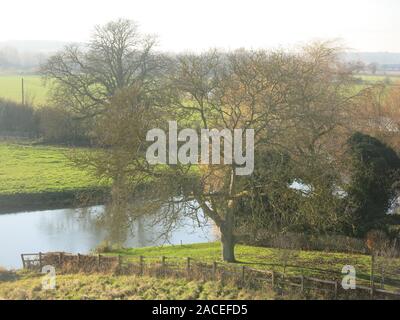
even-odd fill
[{"label": "green grass strip around the tree trunk, behind the wooden fence", "polygon": [[[115,250],[112,254],[120,254],[136,259],[160,259],[166,257],[191,257],[202,261],[220,261],[221,248],[219,243],[202,243],[183,246],[164,246],[151,248],[132,248]],[[236,259],[239,264],[251,268],[283,272],[285,256],[290,256],[286,272],[288,274],[304,274],[318,276],[324,279],[340,279],[341,270],[345,265],[356,268],[357,278],[364,284],[368,283],[370,275],[370,256],[361,254],[319,252],[319,251],[287,251],[275,248],[262,248],[246,245],[236,246]],[[183,260],[182,260],[183,261]]]}]

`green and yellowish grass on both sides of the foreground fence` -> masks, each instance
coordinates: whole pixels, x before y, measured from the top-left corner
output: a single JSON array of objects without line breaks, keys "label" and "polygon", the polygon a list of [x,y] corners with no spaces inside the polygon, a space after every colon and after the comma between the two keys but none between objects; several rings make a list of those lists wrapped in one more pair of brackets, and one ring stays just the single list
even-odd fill
[{"label": "green and yellowish grass on both sides of the foreground fence", "polygon": [[[236,247],[238,265],[257,269],[283,271],[282,257],[287,250],[246,245]],[[201,243],[192,245],[125,248],[107,255],[122,255],[124,260],[137,261],[144,256],[145,263],[172,259],[182,261],[188,256],[203,261],[220,261],[220,244]],[[182,258],[180,260],[176,260]],[[324,279],[341,280],[344,265],[353,265],[357,272],[357,285],[368,285],[371,259],[367,255],[338,252],[293,251],[286,274],[303,274]],[[396,262],[399,266],[398,261]],[[3,274],[3,276],[2,276]],[[262,290],[240,288],[230,282],[188,280],[185,278],[156,278],[112,273],[58,274],[56,290],[42,290],[43,275],[27,271],[0,271],[0,299],[302,299],[298,290]],[[376,282],[379,286],[379,279]],[[390,285],[385,289],[393,290]],[[315,296],[311,298],[323,298]]]}]

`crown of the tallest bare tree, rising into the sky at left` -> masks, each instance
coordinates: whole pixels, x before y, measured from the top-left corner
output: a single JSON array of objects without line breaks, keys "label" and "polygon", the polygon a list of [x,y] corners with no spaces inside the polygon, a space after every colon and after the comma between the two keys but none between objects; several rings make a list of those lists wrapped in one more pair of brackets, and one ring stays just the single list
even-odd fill
[{"label": "crown of the tallest bare tree, rising into the sky at left", "polygon": [[52,100],[79,117],[93,117],[118,90],[137,82],[150,85],[160,63],[154,37],[119,19],[97,26],[88,44],[72,44],[41,66],[52,85]]}]

